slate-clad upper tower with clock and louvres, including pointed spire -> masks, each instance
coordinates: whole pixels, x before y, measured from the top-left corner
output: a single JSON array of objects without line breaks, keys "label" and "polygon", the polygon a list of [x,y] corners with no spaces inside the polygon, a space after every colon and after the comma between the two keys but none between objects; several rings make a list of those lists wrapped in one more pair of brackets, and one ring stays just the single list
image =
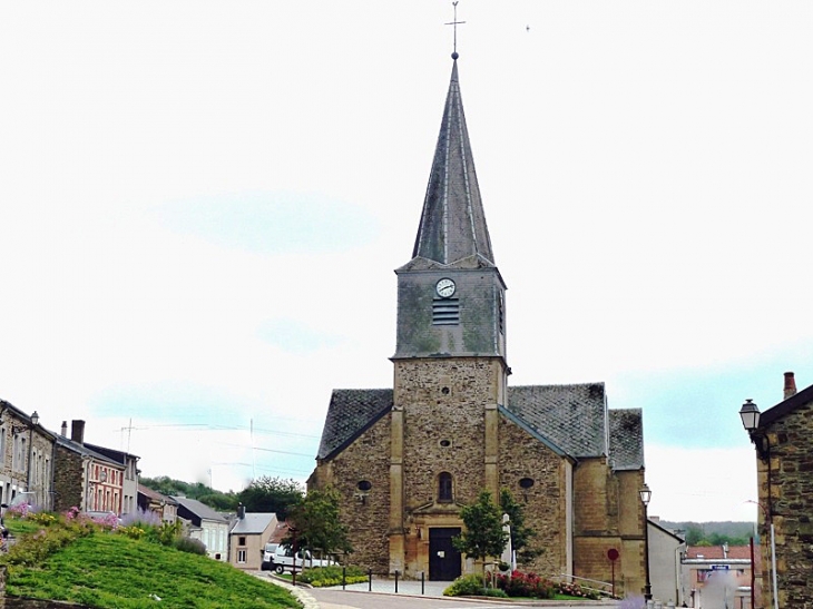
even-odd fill
[{"label": "slate-clad upper tower with clock and louvres, including pointed spire", "polygon": [[506,357],[506,285],[480,200],[457,58],[412,259],[395,271],[395,360]]}]

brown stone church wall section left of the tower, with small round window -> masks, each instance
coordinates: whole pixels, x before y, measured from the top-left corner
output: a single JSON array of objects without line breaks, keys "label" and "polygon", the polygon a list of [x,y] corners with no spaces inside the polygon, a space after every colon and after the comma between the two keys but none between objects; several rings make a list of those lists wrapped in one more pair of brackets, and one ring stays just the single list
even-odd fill
[{"label": "brown stone church wall section left of the tower, with small round window", "polygon": [[[320,468],[327,468],[327,464]],[[390,418],[383,416],[331,462],[329,479],[341,493],[341,518],[354,548],[350,561],[378,573],[389,570]],[[319,477],[316,477],[319,478]],[[368,481],[366,492],[359,482]]]}]

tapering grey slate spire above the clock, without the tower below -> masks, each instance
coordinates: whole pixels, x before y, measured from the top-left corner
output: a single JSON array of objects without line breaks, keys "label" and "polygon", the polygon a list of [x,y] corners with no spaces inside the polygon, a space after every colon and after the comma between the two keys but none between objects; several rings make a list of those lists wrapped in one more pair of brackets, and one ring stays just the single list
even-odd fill
[{"label": "tapering grey slate spire above the clock, without the tower below", "polygon": [[448,265],[471,256],[494,265],[454,59],[412,257]]}]

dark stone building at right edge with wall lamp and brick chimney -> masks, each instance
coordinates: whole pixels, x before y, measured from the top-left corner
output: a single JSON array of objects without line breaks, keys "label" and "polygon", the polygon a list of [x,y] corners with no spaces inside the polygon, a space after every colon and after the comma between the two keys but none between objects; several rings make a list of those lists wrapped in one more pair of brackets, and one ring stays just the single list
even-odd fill
[{"label": "dark stone building at right edge with wall lamp and brick chimney", "polygon": [[[782,402],[760,414],[748,400],[743,413],[756,414],[751,439],[756,446],[762,507],[764,605],[774,606],[775,581],[780,607],[813,607],[813,385],[797,392],[794,375],[787,372]],[[771,524],[775,557],[771,553]]]}]

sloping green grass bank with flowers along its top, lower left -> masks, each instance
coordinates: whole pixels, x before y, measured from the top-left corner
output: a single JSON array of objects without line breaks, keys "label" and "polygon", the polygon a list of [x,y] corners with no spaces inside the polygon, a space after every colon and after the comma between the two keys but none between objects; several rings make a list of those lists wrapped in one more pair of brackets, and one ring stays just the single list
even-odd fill
[{"label": "sloping green grass bank with flowers along its top, lower left", "polygon": [[[59,522],[32,527],[25,520],[7,520],[7,525],[21,538],[0,561],[8,566],[9,596],[116,609],[301,608],[277,586],[146,538],[90,525],[56,548],[61,541],[46,539],[62,534]],[[45,552],[38,548],[40,541]]]}]

